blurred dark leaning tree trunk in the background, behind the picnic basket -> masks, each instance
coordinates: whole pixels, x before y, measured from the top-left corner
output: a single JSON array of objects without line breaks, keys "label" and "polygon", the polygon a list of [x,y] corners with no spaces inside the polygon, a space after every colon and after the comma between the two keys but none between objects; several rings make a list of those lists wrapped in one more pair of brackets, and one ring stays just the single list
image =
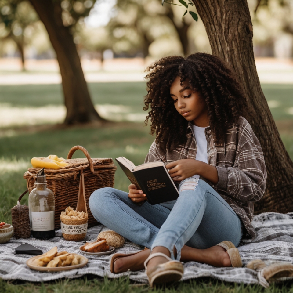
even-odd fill
[{"label": "blurred dark leaning tree trunk in the background, behind the picnic basket", "polygon": [[60,0],[31,0],[48,31],[62,76],[66,124],[101,120],[96,112],[81,68],[80,58],[68,27],[62,22]]}]

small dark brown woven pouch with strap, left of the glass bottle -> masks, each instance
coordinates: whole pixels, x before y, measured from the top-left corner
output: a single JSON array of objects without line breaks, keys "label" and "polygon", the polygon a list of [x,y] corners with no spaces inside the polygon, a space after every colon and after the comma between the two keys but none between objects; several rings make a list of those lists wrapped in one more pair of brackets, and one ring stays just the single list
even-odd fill
[{"label": "small dark brown woven pouch with strap, left of the glass bottle", "polygon": [[11,209],[12,226],[14,228],[13,236],[15,238],[29,238],[31,236],[28,206],[20,204],[20,200],[27,192],[28,190],[21,194],[17,201],[17,205]]}]

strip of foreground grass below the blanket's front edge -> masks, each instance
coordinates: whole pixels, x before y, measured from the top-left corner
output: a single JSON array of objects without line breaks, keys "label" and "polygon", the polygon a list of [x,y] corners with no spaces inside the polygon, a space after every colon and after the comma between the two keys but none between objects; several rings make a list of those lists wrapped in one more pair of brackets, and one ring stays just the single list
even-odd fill
[{"label": "strip of foreground grass below the blanket's front edge", "polygon": [[30,282],[7,283],[0,279],[0,292],[5,293],[293,293],[292,282],[282,285],[272,284],[269,288],[260,285],[245,285],[227,283],[211,278],[200,278],[171,284],[162,287],[149,288],[147,284],[139,284],[128,278],[109,280],[94,276],[82,277],[73,280],[56,280],[40,284]]}]

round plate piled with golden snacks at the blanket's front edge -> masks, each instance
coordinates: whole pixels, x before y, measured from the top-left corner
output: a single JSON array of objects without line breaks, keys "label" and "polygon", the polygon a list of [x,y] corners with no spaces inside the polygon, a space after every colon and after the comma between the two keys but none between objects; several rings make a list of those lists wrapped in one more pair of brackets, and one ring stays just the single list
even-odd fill
[{"label": "round plate piled with golden snacks at the blanket's front edge", "polygon": [[76,253],[57,251],[57,246],[48,252],[34,256],[27,260],[27,266],[41,272],[58,272],[69,269],[82,268],[88,259]]}]

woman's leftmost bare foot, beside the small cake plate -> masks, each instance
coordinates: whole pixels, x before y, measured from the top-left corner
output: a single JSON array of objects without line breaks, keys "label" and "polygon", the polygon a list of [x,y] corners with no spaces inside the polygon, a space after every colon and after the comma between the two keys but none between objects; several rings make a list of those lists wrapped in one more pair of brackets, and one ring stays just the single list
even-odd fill
[{"label": "woman's leftmost bare foot, beside the small cake plate", "polygon": [[144,269],[144,261],[150,255],[150,249],[144,249],[136,254],[121,256],[114,260],[114,273],[123,273],[130,269],[131,271],[140,271]]}]

